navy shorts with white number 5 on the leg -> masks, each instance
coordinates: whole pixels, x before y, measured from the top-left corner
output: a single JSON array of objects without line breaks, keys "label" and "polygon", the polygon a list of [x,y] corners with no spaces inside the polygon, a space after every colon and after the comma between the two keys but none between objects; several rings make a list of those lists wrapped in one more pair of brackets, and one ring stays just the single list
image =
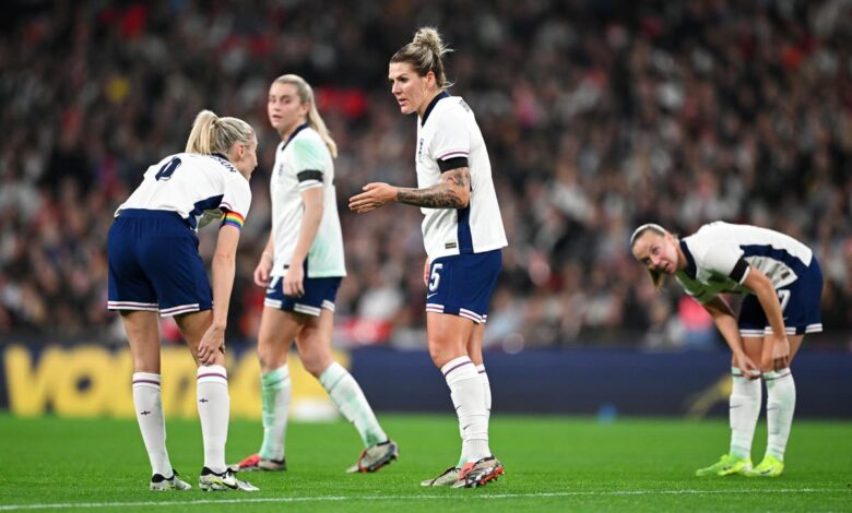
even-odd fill
[{"label": "navy shorts with white number 5 on the leg", "polygon": [[429,262],[426,311],[451,313],[481,324],[502,269],[501,250],[454,254]]}]

